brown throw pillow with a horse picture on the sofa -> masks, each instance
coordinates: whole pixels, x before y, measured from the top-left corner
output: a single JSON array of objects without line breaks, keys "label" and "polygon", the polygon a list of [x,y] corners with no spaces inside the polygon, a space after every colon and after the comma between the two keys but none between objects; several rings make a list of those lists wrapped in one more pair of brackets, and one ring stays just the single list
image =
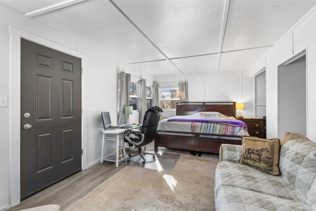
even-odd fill
[{"label": "brown throw pillow with a horse picture on the sofa", "polygon": [[242,153],[239,164],[254,167],[279,175],[280,140],[262,139],[257,137],[242,137]]}]

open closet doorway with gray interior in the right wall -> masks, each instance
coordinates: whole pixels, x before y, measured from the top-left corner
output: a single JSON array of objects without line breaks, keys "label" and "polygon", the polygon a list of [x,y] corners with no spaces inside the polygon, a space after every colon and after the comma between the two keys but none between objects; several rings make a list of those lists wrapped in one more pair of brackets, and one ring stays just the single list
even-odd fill
[{"label": "open closet doorway with gray interior in the right wall", "polygon": [[278,136],[307,135],[306,52],[278,66]]}]

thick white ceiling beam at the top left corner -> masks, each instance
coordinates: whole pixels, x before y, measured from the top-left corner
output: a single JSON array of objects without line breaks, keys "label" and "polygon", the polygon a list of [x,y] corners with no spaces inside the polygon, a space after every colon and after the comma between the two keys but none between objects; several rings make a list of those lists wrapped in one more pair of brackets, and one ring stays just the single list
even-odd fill
[{"label": "thick white ceiling beam at the top left corner", "polygon": [[40,7],[38,9],[34,9],[31,11],[25,12],[24,14],[27,17],[34,17],[37,15],[41,15],[41,14],[51,12],[51,11],[54,11],[57,9],[61,9],[61,8],[67,7],[67,6],[71,6],[71,5],[74,5],[74,4],[83,2],[83,1],[86,1],[86,0],[63,0],[63,1],[59,1],[57,3],[49,4],[47,6],[43,6],[43,7]]}]

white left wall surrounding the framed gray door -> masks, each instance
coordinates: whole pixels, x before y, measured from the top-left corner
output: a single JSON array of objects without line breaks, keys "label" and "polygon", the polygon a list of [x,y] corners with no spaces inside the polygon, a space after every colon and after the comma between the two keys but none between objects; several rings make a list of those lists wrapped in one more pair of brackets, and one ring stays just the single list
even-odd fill
[{"label": "white left wall surrounding the framed gray door", "polygon": [[[118,59],[104,55],[76,40],[58,34],[45,28],[31,18],[26,18],[14,13],[7,8],[0,6],[0,96],[8,96],[8,107],[0,108],[0,211],[10,207],[10,178],[13,180],[16,175],[10,175],[10,122],[12,113],[19,111],[12,110],[10,104],[11,95],[11,67],[10,67],[10,35],[9,26],[27,31],[48,41],[56,42],[70,49],[86,54],[87,69],[83,77],[87,77],[87,108],[84,113],[87,115],[87,166],[99,162],[101,157],[101,111],[110,111],[113,124],[117,123],[117,72],[120,70],[131,73],[134,76],[142,75],[148,81],[153,81],[153,76],[142,73],[138,69],[128,65],[119,65]],[[14,43],[13,43],[14,44]],[[120,66],[120,68],[119,68]],[[12,74],[14,77],[14,73]],[[12,111],[11,111],[12,110]],[[136,119],[137,119],[137,114]],[[16,131],[19,133],[19,131]],[[109,150],[112,151],[112,150]],[[114,151],[114,148],[113,148]],[[18,183],[17,181],[16,183]],[[14,193],[13,193],[14,194]]]}]

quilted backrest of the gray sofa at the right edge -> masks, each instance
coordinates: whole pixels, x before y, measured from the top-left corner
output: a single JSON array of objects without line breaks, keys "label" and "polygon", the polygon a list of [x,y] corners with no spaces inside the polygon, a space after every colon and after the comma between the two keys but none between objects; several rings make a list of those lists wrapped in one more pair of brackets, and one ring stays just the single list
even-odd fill
[{"label": "quilted backrest of the gray sofa at the right edge", "polygon": [[282,177],[305,196],[305,202],[316,210],[316,143],[292,140],[280,152]]}]

